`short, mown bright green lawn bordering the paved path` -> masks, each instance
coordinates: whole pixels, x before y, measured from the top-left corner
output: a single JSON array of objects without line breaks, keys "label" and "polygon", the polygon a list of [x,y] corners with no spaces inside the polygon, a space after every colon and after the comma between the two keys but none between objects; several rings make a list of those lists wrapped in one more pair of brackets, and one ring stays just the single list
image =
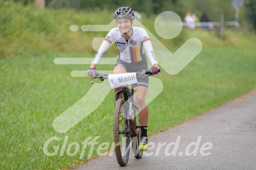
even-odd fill
[{"label": "short, mown bright green lawn bordering the paved path", "polygon": [[[113,90],[94,113],[67,133],[54,131],[54,118],[82,98],[91,86],[90,78],[70,75],[72,70],[85,70],[86,65],[54,64],[55,57],[67,56],[79,57],[79,54],[47,53],[1,59],[0,166],[4,169],[70,168],[87,160],[89,148],[84,159],[79,159],[85,138],[101,136],[97,142],[112,143]],[[148,106],[149,135],[254,88],[255,59],[247,47],[206,47],[179,74],[172,76],[162,70],[157,77],[164,89]],[[112,66],[99,65],[98,69],[111,70]],[[65,136],[69,136],[67,146],[79,143],[79,152],[75,156],[66,152],[59,156],[59,149],[56,156],[46,156],[43,145],[54,136],[61,141],[51,142],[49,152],[54,151],[53,145],[61,147]],[[94,156],[97,157],[96,150]]]}]

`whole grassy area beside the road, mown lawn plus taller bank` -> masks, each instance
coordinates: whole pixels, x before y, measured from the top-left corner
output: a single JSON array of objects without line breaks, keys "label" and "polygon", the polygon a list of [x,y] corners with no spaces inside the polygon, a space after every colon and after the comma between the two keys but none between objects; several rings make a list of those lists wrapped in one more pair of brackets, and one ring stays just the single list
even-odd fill
[{"label": "whole grassy area beside the road, mown lawn plus taller bank", "polygon": [[[0,15],[1,23],[5,23],[0,25],[1,169],[72,168],[90,159],[90,147],[85,150],[83,159],[79,159],[86,138],[100,136],[97,139],[99,144],[112,144],[113,90],[97,110],[65,134],[54,131],[52,125],[59,114],[85,96],[91,87],[90,78],[70,75],[72,70],[87,70],[89,65],[57,65],[54,58],[93,57],[92,39],[106,34],[70,32],[66,28],[72,24],[108,24],[112,21],[106,19],[108,13],[106,18],[99,18],[95,23],[93,19],[84,17],[88,13],[83,11],[44,11],[3,0],[0,0],[0,10],[4,11]],[[91,16],[96,17],[97,13],[91,13]],[[144,18],[150,31],[153,30],[153,19],[152,16]],[[164,88],[148,105],[148,135],[181,124],[256,87],[256,37],[227,29],[224,40],[216,34],[200,29],[183,29],[177,40],[160,39],[174,52],[186,39],[196,37],[202,41],[203,50],[179,74],[169,75],[162,69],[156,75]],[[117,55],[116,49],[112,49],[105,57]],[[102,64],[97,69],[112,70],[113,66]],[[65,152],[60,156],[65,136],[69,138]],[[60,148],[55,156],[47,156],[43,145],[52,137],[61,140],[50,142],[48,151],[54,152],[54,146]],[[69,156],[66,151],[72,142],[79,144],[79,152]],[[72,146],[71,152],[75,149]],[[101,153],[109,150],[110,146]],[[95,157],[97,151],[94,149],[91,158]]]}]

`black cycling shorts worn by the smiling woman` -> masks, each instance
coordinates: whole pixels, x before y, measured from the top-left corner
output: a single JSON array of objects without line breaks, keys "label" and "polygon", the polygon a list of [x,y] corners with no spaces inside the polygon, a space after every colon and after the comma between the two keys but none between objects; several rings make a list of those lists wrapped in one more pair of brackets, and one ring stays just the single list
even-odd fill
[{"label": "black cycling shorts worn by the smiling woman", "polygon": [[[121,60],[118,57],[115,67],[116,66],[125,67],[127,73],[140,72],[140,71],[148,70],[148,61],[141,60],[136,63],[126,63],[125,61]],[[137,81],[138,82],[136,84],[134,84],[134,88],[137,86],[144,86],[144,87],[148,88],[148,76],[145,76],[145,78],[139,77],[139,78],[137,78]]]}]

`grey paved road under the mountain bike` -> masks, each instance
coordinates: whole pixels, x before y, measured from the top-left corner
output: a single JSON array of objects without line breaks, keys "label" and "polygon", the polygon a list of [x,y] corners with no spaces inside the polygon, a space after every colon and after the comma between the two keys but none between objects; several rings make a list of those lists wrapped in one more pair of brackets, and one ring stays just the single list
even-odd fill
[{"label": "grey paved road under the mountain bike", "polygon": [[151,136],[149,142],[155,147],[150,145],[142,159],[130,153],[125,167],[107,155],[77,170],[256,170],[256,90]]}]

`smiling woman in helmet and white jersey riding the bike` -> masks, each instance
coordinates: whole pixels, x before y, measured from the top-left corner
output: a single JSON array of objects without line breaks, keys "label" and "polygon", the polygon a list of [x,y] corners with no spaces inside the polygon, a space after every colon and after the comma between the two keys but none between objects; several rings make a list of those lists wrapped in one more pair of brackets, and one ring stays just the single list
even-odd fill
[{"label": "smiling woman in helmet and white jersey riding the bike", "polygon": [[[144,28],[132,27],[135,19],[133,10],[130,7],[119,7],[115,11],[114,18],[117,23],[117,28],[113,28],[108,32],[87,74],[94,78],[95,68],[112,41],[115,42],[119,50],[119,57],[114,67],[114,74],[148,70],[148,62],[143,46],[152,64],[150,68],[151,73],[158,74],[159,67],[157,59],[147,32]],[[134,90],[141,121],[142,140],[140,149],[145,151],[148,149],[148,106],[145,100],[148,91],[148,76],[145,76],[145,78],[137,78],[137,81],[137,84],[134,84]],[[116,88],[115,92],[119,90],[120,88]]]}]

